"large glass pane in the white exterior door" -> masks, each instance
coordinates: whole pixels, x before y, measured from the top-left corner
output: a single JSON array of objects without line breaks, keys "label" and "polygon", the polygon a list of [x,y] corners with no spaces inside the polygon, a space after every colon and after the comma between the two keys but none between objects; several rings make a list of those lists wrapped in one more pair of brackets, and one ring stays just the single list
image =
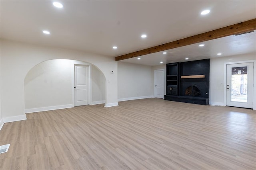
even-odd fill
[{"label": "large glass pane in the white exterior door", "polygon": [[232,67],[231,102],[247,103],[247,66]]}]

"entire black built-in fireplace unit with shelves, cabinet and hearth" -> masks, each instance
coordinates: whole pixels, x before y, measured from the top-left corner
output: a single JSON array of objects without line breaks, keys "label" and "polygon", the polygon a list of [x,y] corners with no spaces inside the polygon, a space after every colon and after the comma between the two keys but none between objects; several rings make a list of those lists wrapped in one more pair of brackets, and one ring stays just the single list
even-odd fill
[{"label": "entire black built-in fireplace unit with shelves, cabinet and hearth", "polygon": [[[204,75],[203,78],[181,76]],[[193,104],[209,104],[210,59],[166,64],[166,95],[164,100]],[[188,91],[187,91],[188,89]],[[190,94],[195,89],[197,95]],[[188,94],[186,94],[188,92]]]}]

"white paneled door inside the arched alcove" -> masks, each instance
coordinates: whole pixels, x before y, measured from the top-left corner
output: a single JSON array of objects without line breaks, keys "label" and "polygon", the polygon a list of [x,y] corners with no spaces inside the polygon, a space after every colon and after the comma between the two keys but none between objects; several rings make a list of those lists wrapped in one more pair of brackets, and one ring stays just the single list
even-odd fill
[{"label": "white paneled door inside the arched alcove", "polygon": [[75,65],[75,106],[89,104],[89,66]]}]

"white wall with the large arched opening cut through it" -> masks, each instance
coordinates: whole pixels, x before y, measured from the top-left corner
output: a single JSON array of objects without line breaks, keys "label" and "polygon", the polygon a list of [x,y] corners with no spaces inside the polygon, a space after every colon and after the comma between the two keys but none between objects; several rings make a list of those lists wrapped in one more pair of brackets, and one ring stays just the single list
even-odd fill
[{"label": "white wall with the large arched opening cut through it", "polygon": [[[74,59],[94,64],[106,77],[106,106],[117,103],[117,62],[114,57],[82,51],[42,47],[1,39],[1,115],[2,118],[24,115],[24,78],[43,61]],[[111,74],[114,70],[114,74]]]}]

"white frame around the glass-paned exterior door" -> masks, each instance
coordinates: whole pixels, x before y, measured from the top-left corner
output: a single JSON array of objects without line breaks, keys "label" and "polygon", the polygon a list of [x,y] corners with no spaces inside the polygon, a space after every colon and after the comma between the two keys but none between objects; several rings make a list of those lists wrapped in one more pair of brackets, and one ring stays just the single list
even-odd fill
[{"label": "white frame around the glass-paned exterior door", "polygon": [[[247,61],[234,61],[234,62],[228,62],[228,63],[224,63],[224,81],[223,81],[223,90],[224,90],[224,98],[223,98],[223,103],[224,106],[226,106],[226,86],[227,86],[227,65],[228,64],[242,64],[242,63],[253,63],[253,96],[256,96],[256,68],[255,68],[255,64],[256,64],[256,60],[247,60]],[[256,98],[253,98],[253,109],[256,110]]]}]

